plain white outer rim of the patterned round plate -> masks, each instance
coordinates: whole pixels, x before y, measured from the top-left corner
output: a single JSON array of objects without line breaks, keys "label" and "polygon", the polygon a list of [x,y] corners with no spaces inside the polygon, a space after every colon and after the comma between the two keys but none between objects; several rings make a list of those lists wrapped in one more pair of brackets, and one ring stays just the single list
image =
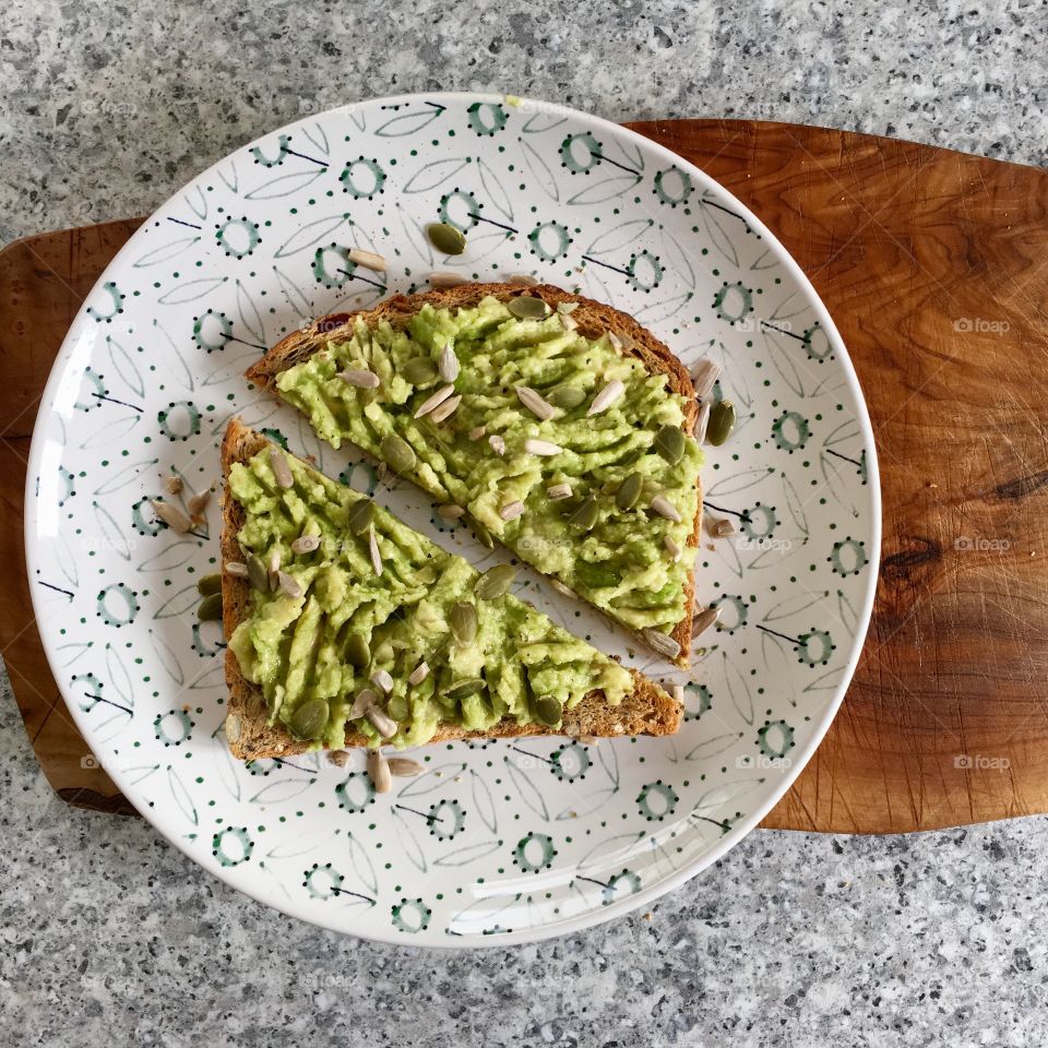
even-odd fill
[{"label": "plain white outer rim of the patterned round plate", "polygon": [[[514,99],[514,102],[508,102],[510,98]],[[778,803],[779,800],[782,800],[789,787],[793,786],[793,784],[803,772],[808,762],[811,760],[815,750],[819,748],[823,738],[825,737],[826,731],[830,729],[830,725],[836,717],[841,708],[841,704],[844,701],[845,694],[851,684],[856,666],[858,665],[859,657],[862,654],[873,611],[873,603],[877,595],[877,580],[881,557],[882,501],[880,469],[878,465],[877,443],[874,440],[873,427],[870,421],[869,408],[867,406],[866,396],[862,393],[862,388],[859,383],[859,379],[856,373],[855,366],[851,362],[851,357],[848,353],[847,346],[845,345],[841,333],[837,331],[836,324],[833,322],[833,318],[830,315],[829,309],[823,302],[822,297],[819,295],[811,279],[805,273],[797,260],[794,259],[789,251],[779,241],[778,237],[775,236],[775,234],[769,229],[769,227],[733,192],[730,192],[730,190],[728,190],[711,175],[707,175],[706,171],[701,167],[693,164],[691,160],[686,159],[680,154],[672,152],[672,150],[667,148],[662,143],[655,142],[653,139],[645,138],[643,134],[632,130],[632,128],[616,123],[615,121],[608,120],[604,117],[594,116],[592,114],[584,112],[583,110],[575,109],[571,106],[564,106],[560,103],[549,103],[525,95],[507,95],[504,93],[497,92],[437,91],[389,95],[377,98],[362,98],[354,103],[347,103],[346,105],[335,106],[331,109],[322,110],[321,112],[308,114],[303,117],[300,117],[298,120],[294,120],[289,123],[283,124],[282,127],[264,131],[262,134],[257,135],[255,138],[226,152],[214,164],[195,174],[191,179],[167,195],[156,207],[154,207],[139,229],[131,235],[128,241],[109,261],[98,279],[92,285],[92,288],[85,296],[84,300],[88,300],[96,293],[96,290],[106,283],[108,274],[114,265],[116,265],[121,258],[126,257],[126,254],[129,254],[138,243],[144,240],[145,236],[147,235],[150,221],[155,215],[162,213],[170,204],[172,204],[181,194],[186,192],[188,187],[203,180],[212,172],[216,172],[218,167],[227,163],[230,157],[238,155],[245,150],[251,148],[253,145],[263,142],[265,139],[269,139],[272,135],[293,132],[312,121],[322,120],[336,115],[346,116],[353,110],[361,107],[406,105],[420,99],[436,100],[441,104],[448,103],[451,105],[464,102],[515,105],[516,107],[532,105],[535,106],[538,111],[546,110],[562,112],[570,119],[577,120],[583,124],[595,127],[598,130],[605,131],[605,133],[609,135],[616,138],[626,136],[628,141],[641,146],[646,151],[654,152],[656,157],[665,159],[670,164],[678,166],[682,165],[682,169],[686,170],[687,174],[696,181],[700,188],[711,190],[719,196],[727,199],[734,207],[738,209],[739,216],[746,223],[748,223],[752,229],[759,233],[764,241],[767,242],[770,249],[774,251],[778,262],[785,266],[786,271],[797,283],[798,289],[807,293],[808,303],[810,305],[812,312],[815,314],[819,324],[825,331],[827,341],[833,346],[834,354],[837,357],[837,362],[841,366],[846,380],[848,391],[855,398],[857,407],[856,421],[859,426],[859,430],[867,449],[867,488],[870,492],[871,503],[871,519],[868,522],[872,547],[869,555],[870,571],[867,575],[866,592],[859,609],[857,628],[853,639],[850,655],[847,664],[844,667],[841,680],[834,689],[833,698],[826,704],[822,715],[819,716],[818,719],[814,717],[812,718],[811,735],[808,742],[799,749],[799,752],[796,753],[796,755],[791,757],[789,769],[786,770],[778,784],[769,793],[766,798],[761,803],[757,805],[749,814],[735,823],[731,829],[712,847],[704,850],[700,858],[686,864],[681,868],[674,870],[671,873],[665,874],[635,894],[612,902],[607,906],[593,908],[583,914],[567,917],[562,920],[555,920],[537,927],[531,927],[521,929],[520,931],[513,931],[498,936],[480,936],[471,933],[460,937],[448,936],[446,940],[437,939],[425,942],[407,942],[403,938],[396,938],[395,933],[392,931],[384,931],[384,929],[368,929],[367,931],[361,932],[342,931],[337,928],[332,928],[329,924],[325,924],[320,915],[309,913],[305,903],[296,902],[295,900],[290,898],[279,898],[275,889],[267,891],[261,883],[259,883],[257,888],[245,886],[239,883],[239,879],[235,876],[234,870],[211,869],[210,867],[205,866],[202,861],[202,857],[199,855],[199,842],[182,841],[171,835],[168,830],[165,829],[159,815],[157,814],[157,817],[154,818],[153,809],[146,808],[143,811],[142,808],[135,803],[135,798],[129,795],[128,788],[126,788],[127,784],[121,783],[120,781],[122,776],[119,773],[116,773],[116,770],[110,771],[110,769],[106,765],[106,761],[98,754],[95,754],[96,759],[106,771],[106,774],[110,775],[117,787],[127,797],[128,801],[165,841],[184,854],[194,865],[201,867],[204,872],[215,877],[235,891],[242,892],[245,895],[248,895],[265,906],[276,909],[288,917],[293,917],[297,920],[303,920],[307,924],[323,928],[326,931],[333,931],[337,934],[353,936],[354,938],[365,939],[372,942],[383,942],[392,945],[410,945],[416,949],[422,948],[429,950],[499,949],[511,945],[541,942],[544,940],[584,931],[585,929],[606,924],[607,921],[618,917],[624,917],[627,914],[643,908],[669,892],[676,891],[692,878],[696,877],[717,862],[743,837],[750,834],[753,830],[758,829],[764,817]],[[44,448],[44,427],[41,425],[41,419],[44,418],[44,413],[47,405],[55,401],[57,389],[63,376],[68,371],[71,360],[78,348],[78,338],[74,335],[80,326],[81,315],[81,312],[78,311],[78,314],[73,319],[69,331],[66,333],[66,336],[62,340],[62,345],[55,357],[53,362],[51,364],[50,372],[44,386],[44,392],[40,396],[37,415],[33,424],[33,439],[29,445],[26,466],[24,496],[25,511],[23,519],[23,541],[25,549],[27,581],[32,580],[34,570],[39,567],[35,544],[38,535],[39,523],[37,513],[38,497],[36,492],[36,483]],[[38,606],[36,591],[32,585],[29,585],[29,598],[35,619],[38,622],[46,621],[46,615]],[[39,632],[40,643],[48,662],[48,668],[52,669],[52,667],[57,665],[57,651],[55,650],[53,642],[47,635],[45,635],[45,631],[40,630]],[[80,730],[80,733],[85,737],[86,741],[90,733],[86,715],[80,710],[79,703],[73,699],[68,686],[58,679],[58,675],[56,675],[56,684],[58,686],[59,693],[62,696],[70,716],[73,718],[73,723],[76,725],[78,730]],[[90,743],[87,745],[90,747]],[[131,793],[133,794],[133,789]]]}]

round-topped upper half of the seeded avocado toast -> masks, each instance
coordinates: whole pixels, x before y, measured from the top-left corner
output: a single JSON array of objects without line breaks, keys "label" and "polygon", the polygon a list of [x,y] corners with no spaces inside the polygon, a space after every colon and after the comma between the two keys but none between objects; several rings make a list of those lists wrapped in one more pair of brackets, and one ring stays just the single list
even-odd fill
[{"label": "round-topped upper half of the seeded avocado toast", "polygon": [[550,285],[464,284],[314,321],[247,378],[687,665],[698,404],[631,317]]}]

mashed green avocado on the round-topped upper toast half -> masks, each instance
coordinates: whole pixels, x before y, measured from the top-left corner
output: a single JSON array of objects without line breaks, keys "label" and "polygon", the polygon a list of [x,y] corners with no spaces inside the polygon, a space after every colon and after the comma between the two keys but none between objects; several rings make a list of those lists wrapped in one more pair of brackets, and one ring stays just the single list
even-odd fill
[{"label": "mashed green avocado on the round-topped upper toast half", "polygon": [[[462,401],[443,421],[415,418],[445,384],[434,367],[445,346],[458,361],[454,393]],[[350,384],[341,378],[347,369],[373,372],[378,386]],[[623,383],[623,394],[590,416],[594,396],[614,380]],[[329,343],[288,368],[277,386],[333,446],[348,440],[385,458],[624,626],[668,633],[688,614],[691,558],[680,551],[698,510],[702,452],[689,438],[679,461],[658,453],[655,437],[663,427],[680,427],[684,398],[667,389],[665,376],[648,374],[640,360],[623,356],[607,335],[585,338],[557,311],[520,320],[493,297],[455,311],[427,305],[403,331],[385,321],[369,330],[358,321],[353,338]],[[521,403],[517,386],[564,406],[540,420]],[[409,468],[384,453],[391,436],[414,451]],[[529,438],[562,450],[531,453]],[[640,475],[641,495],[621,509],[616,492],[632,474]],[[551,499],[548,489],[560,485],[570,486],[571,495]],[[571,517],[591,496],[596,512],[587,527]],[[657,496],[679,521],[653,511]],[[505,520],[502,511],[513,502],[524,511]]]}]

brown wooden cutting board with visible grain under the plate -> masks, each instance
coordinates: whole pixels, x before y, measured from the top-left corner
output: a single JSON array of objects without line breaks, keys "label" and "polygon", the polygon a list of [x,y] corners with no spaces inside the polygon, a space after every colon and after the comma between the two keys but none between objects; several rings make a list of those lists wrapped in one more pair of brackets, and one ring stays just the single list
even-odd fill
[{"label": "brown wooden cutting board with visible grain under the plate", "polygon": [[[1048,175],[791,124],[631,127],[753,209],[851,354],[881,463],[884,549],[847,699],[766,826],[889,833],[1048,811]],[[29,437],[81,301],[141,219],[0,252],[0,536],[21,551]],[[0,645],[40,765],[131,812],[40,647],[24,560]]]}]

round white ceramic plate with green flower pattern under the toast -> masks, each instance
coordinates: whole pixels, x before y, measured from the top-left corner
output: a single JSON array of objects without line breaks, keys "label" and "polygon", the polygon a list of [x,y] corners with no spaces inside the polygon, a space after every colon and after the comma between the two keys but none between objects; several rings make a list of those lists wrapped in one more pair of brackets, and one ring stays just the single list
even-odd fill
[{"label": "round white ceramic plate with green flower pattern under the toast", "polygon": [[[720,624],[682,682],[668,739],[501,740],[422,751],[427,772],[376,797],[360,754],[231,760],[217,626],[195,580],[210,533],[179,537],[150,497],[171,471],[218,473],[227,419],[312,453],[357,487],[373,473],[321,446],[245,368],[294,327],[446,269],[420,229],[443,218],[471,278],[514,272],[609,301],[686,361],[724,365],[739,410],[712,449],[707,512],[740,531],[699,556]],[[389,286],[354,270],[359,246]],[[811,285],[702,171],[580,112],[501,96],[413,95],[309,117],[192,181],[88,296],[44,395],[26,498],[33,597],[56,679],[123,794],[245,892],[327,928],[432,945],[525,942],[617,917],[723,855],[783,795],[832,719],[872,603],[880,533],[873,439],[851,365]],[[402,486],[380,497],[478,564],[496,556]],[[517,588],[611,652],[580,605]],[[550,599],[552,596],[555,599]]]}]

